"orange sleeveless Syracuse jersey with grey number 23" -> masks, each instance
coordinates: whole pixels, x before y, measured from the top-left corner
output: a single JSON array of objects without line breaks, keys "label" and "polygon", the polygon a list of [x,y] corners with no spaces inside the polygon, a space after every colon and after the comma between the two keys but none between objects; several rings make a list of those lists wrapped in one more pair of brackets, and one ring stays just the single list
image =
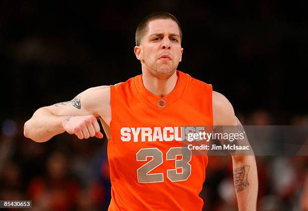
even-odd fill
[{"label": "orange sleeveless Syracuse jersey with grey number 23", "polygon": [[201,210],[207,156],[181,141],[185,125],[213,125],[212,86],[177,71],[174,90],[160,98],[142,75],[111,86],[109,210]]}]

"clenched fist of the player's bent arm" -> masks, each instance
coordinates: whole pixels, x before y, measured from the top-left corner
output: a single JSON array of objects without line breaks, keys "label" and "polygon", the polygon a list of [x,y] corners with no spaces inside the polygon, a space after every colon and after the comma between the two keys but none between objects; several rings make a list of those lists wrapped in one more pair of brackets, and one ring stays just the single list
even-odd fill
[{"label": "clenched fist of the player's bent arm", "polygon": [[100,125],[94,115],[67,116],[62,121],[62,126],[69,134],[75,134],[79,139],[89,137],[103,138]]}]

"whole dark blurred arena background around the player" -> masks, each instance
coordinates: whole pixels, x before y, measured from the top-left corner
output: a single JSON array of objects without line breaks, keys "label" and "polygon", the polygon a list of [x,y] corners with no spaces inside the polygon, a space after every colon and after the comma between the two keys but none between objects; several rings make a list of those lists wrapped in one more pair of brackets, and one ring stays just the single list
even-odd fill
[{"label": "whole dark blurred arena background around the player", "polygon": [[[134,33],[152,12],[177,17],[178,69],[225,95],[243,125],[307,125],[307,6],[1,1],[0,200],[32,200],[33,210],[108,207],[107,139],[61,134],[39,144],[24,137],[23,124],[39,107],[141,74]],[[256,159],[258,210],[308,210],[307,157]],[[209,157],[206,174],[204,210],[237,210],[231,158]]]}]

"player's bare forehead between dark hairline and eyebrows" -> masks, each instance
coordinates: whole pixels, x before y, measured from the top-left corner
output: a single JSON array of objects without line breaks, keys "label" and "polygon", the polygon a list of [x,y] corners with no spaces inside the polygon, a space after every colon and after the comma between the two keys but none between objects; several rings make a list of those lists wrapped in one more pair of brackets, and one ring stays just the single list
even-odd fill
[{"label": "player's bare forehead between dark hairline and eyebrows", "polygon": [[180,34],[178,24],[171,20],[153,20],[148,23],[147,35],[157,34],[157,33],[174,33]]}]

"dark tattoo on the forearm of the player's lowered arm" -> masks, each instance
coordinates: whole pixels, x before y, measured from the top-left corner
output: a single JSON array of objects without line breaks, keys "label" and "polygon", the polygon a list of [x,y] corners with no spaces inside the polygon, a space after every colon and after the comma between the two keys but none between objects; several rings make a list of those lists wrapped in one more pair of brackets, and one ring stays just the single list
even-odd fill
[{"label": "dark tattoo on the forearm of the player's lowered arm", "polygon": [[246,165],[238,169],[234,169],[233,171],[233,178],[234,178],[234,185],[236,188],[236,192],[239,193],[244,189],[248,188],[248,172],[250,166]]}]

